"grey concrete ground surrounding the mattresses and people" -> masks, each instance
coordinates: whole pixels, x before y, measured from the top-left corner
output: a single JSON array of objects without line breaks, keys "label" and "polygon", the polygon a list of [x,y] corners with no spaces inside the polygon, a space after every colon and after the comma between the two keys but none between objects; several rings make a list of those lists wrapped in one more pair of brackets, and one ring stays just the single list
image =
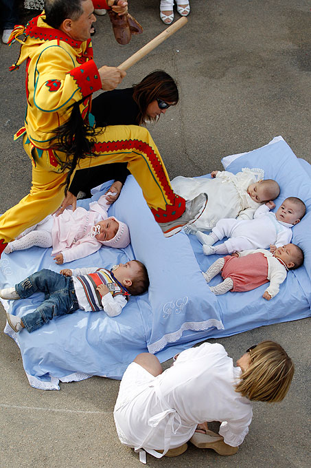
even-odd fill
[{"label": "grey concrete ground surrounding the mattresses and people", "polygon": [[[108,17],[97,17],[93,38],[97,65],[119,65],[164,29],[159,0],[129,3],[130,12],[143,25],[143,35],[134,36],[129,45],[118,45]],[[185,28],[128,70],[123,83],[124,87],[137,83],[155,69],[178,80],[180,103],[150,126],[170,177],[220,169],[223,156],[255,149],[277,135],[297,156],[311,162],[311,3],[191,0],[191,6]],[[12,141],[25,115],[25,67],[8,72],[18,53],[16,43],[12,48],[0,46],[0,213],[30,189],[30,162],[21,143]],[[1,312],[3,329],[2,308]],[[296,366],[288,396],[277,405],[254,405],[249,436],[235,456],[225,458],[190,446],[178,458],[148,456],[148,466],[310,466],[309,337],[310,321],[305,319],[220,339],[233,359],[263,339],[284,345]],[[35,390],[27,381],[16,344],[3,333],[0,340],[1,467],[141,466],[137,454],[122,446],[115,432],[113,406],[119,382],[93,377],[62,384],[60,392]]]}]

